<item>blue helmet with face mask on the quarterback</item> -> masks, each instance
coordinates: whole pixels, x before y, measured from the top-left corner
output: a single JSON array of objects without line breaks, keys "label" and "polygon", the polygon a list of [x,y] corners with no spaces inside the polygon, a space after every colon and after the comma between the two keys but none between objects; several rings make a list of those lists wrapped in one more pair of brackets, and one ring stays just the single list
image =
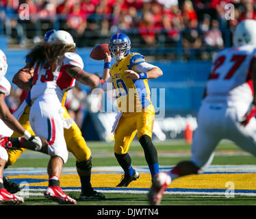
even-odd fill
[{"label": "blue helmet with face mask on the quarterback", "polygon": [[[131,41],[125,34],[114,34],[108,44],[111,57],[115,60],[122,60],[125,56],[129,55],[131,49]],[[119,49],[119,51],[117,51]]]}]

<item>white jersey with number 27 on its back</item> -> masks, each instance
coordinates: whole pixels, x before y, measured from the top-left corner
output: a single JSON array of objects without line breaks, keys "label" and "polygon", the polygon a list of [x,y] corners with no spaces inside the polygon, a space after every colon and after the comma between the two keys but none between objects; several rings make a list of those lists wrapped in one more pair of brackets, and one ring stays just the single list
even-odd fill
[{"label": "white jersey with number 27 on its back", "polygon": [[220,51],[214,58],[207,81],[206,102],[226,102],[228,105],[251,104],[253,101],[252,60],[256,47],[246,45]]}]

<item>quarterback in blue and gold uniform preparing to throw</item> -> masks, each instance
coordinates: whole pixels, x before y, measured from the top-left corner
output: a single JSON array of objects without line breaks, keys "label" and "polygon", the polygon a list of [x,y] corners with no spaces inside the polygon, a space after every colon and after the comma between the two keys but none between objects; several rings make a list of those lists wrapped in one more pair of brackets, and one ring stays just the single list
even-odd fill
[{"label": "quarterback in blue and gold uniform preparing to throw", "polygon": [[[127,187],[139,178],[131,165],[129,146],[136,136],[144,149],[151,176],[159,172],[157,151],[152,138],[155,110],[150,99],[148,79],[161,76],[162,70],[144,60],[139,53],[131,53],[131,42],[125,34],[114,34],[110,39],[110,55],[106,53],[103,68],[103,90],[107,84],[116,90],[119,113],[113,126],[114,155],[125,174],[117,187]],[[110,67],[112,57],[116,60]]]}]

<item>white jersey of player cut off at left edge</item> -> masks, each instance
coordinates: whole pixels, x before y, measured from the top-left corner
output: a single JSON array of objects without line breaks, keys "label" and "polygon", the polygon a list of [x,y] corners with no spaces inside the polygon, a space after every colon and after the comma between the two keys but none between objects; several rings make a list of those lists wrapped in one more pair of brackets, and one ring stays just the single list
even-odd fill
[{"label": "white jersey of player cut off at left edge", "polygon": [[[5,77],[0,77],[0,92],[5,94],[5,96],[10,95],[11,84]],[[12,129],[10,129],[3,120],[0,119],[0,136],[12,136]]]}]

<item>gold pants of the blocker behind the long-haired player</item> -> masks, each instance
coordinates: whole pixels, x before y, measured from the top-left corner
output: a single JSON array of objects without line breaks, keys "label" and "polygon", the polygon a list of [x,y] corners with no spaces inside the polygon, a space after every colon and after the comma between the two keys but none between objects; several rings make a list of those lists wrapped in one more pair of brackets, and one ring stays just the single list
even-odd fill
[{"label": "gold pants of the blocker behind the long-haired player", "polygon": [[[27,107],[25,107],[25,111],[23,112],[21,118],[18,121],[21,123],[21,125],[23,125],[24,129],[27,129],[29,133],[34,135],[34,132],[32,131],[29,124],[29,112],[30,107],[29,105],[27,105]],[[64,118],[70,118],[66,108],[63,116]],[[20,137],[20,135],[14,132],[12,134],[12,137],[18,138]],[[64,137],[66,140],[66,146],[68,151],[73,153],[73,155],[77,159],[77,162],[83,162],[90,158],[92,153],[88,148],[84,137],[81,135],[81,130],[79,129],[75,121],[73,122],[71,128],[64,129]],[[21,155],[21,153],[23,153],[23,151],[25,151],[25,149],[8,150],[9,159],[7,165],[14,164],[18,157]]]}]

